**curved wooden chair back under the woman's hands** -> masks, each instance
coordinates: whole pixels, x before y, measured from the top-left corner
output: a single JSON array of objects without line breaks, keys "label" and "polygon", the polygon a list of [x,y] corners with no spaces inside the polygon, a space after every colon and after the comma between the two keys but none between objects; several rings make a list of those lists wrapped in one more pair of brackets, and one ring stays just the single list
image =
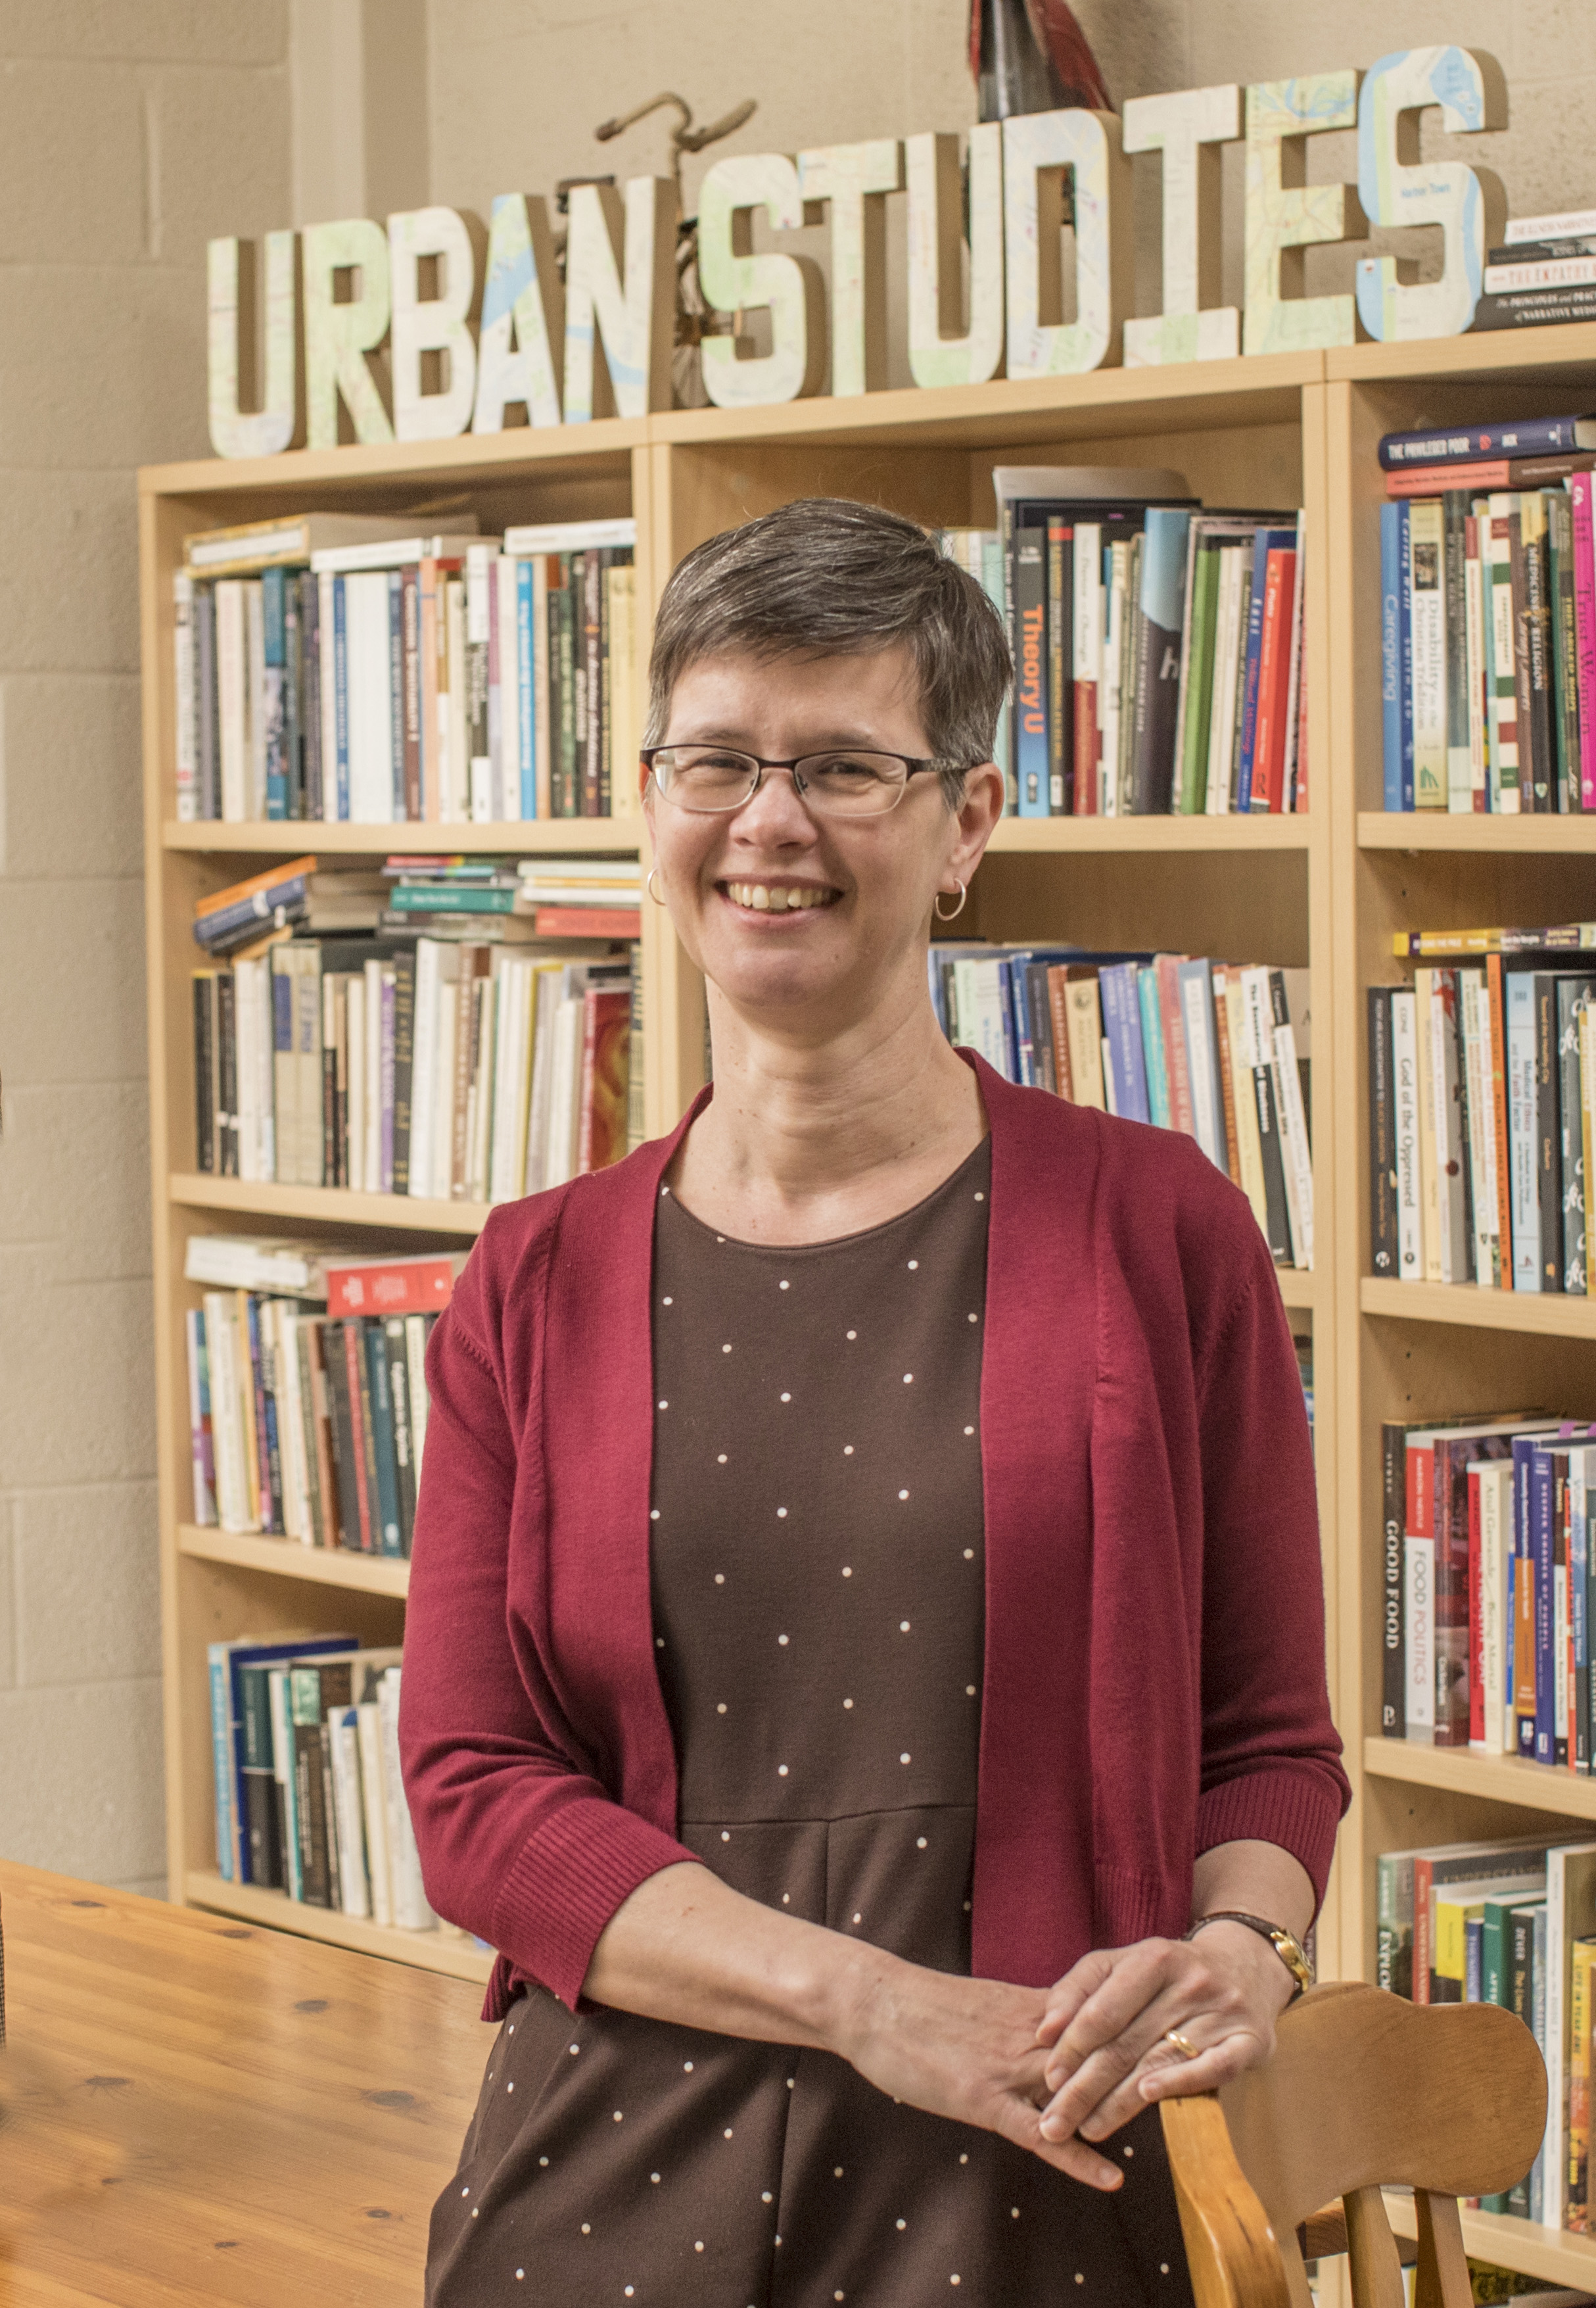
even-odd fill
[{"label": "curved wooden chair back under the woman's hands", "polygon": [[1458,2197],[1525,2176],[1545,2066],[1495,2003],[1421,2008],[1345,1980],[1285,2013],[1266,2068],[1165,2100],[1162,2130],[1197,2308],[1310,2308],[1303,2241],[1347,2250],[1354,2308],[1405,2308],[1393,2186],[1418,2213],[1414,2308],[1469,2308]]}]

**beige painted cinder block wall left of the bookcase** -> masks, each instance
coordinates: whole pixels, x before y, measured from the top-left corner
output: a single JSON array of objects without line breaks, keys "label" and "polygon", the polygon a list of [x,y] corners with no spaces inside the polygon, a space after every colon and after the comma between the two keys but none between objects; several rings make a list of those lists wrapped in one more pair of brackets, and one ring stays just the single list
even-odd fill
[{"label": "beige painted cinder block wall left of the bookcase", "polygon": [[286,7],[0,9],[0,1853],[164,1893],[134,466],[286,224]]}]

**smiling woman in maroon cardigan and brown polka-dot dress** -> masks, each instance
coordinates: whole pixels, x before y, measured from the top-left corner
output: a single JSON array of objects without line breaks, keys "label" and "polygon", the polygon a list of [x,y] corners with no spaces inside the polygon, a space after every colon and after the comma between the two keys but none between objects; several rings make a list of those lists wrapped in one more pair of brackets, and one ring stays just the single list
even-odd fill
[{"label": "smiling woman in maroon cardigan and brown polka-dot dress", "polygon": [[503,1950],[431,2308],[1190,2299],[1151,2103],[1268,2054],[1347,1800],[1312,1461],[1245,1198],[936,1029],[1006,681],[863,505],[664,591],[715,1092],[429,1359],[406,1786]]}]

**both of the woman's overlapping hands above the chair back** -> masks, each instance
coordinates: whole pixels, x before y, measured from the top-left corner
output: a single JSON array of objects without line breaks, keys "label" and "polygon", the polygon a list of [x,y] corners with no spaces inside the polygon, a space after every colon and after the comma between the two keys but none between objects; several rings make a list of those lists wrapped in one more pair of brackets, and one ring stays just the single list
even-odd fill
[{"label": "both of the woman's overlapping hands above the chair back", "polygon": [[1123,2170],[1096,2142],[1153,2100],[1215,2091],[1262,2066],[1289,1999],[1280,1957],[1236,1925],[1211,1925],[1192,1943],[1098,1948],[1054,1987],[883,1959],[849,1999],[835,2050],[895,2100],[999,2133],[1086,2186],[1119,2188]]}]

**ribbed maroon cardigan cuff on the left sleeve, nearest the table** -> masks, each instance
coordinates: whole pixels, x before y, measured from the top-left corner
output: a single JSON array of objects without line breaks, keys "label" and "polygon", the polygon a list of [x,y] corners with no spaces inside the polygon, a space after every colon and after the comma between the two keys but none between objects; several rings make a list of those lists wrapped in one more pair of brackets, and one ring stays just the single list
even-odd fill
[{"label": "ribbed maroon cardigan cuff on the left sleeve, nearest the table", "polygon": [[639,1883],[680,1860],[701,1865],[697,1851],[618,1803],[602,1796],[563,1803],[505,1876],[494,1902],[494,1946],[517,1973],[577,2010],[609,1918]]}]

